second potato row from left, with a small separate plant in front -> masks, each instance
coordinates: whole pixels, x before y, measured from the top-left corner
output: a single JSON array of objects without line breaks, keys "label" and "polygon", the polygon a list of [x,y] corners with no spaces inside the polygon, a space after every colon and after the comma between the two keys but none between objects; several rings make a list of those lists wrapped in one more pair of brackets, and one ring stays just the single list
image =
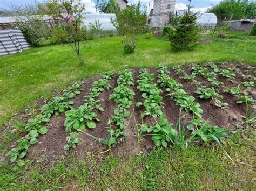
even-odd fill
[{"label": "second potato row from left, with a small separate plant in front", "polygon": [[[65,131],[71,132],[72,130],[83,132],[85,124],[87,128],[96,128],[96,123],[99,122],[99,118],[95,110],[104,111],[103,107],[99,104],[98,97],[104,90],[112,88],[109,84],[109,80],[113,77],[113,72],[107,72],[103,75],[102,79],[93,82],[92,88],[89,94],[84,96],[85,103],[78,108],[71,108],[65,112]],[[67,144],[64,146],[64,150],[69,150],[70,147],[76,147],[80,142],[77,138],[77,132],[71,132],[70,136],[66,138]]]}]

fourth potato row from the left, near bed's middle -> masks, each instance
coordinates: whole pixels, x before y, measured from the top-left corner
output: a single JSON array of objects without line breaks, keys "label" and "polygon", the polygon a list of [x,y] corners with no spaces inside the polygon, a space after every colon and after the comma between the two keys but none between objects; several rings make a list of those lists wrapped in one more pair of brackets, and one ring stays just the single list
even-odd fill
[{"label": "fourth potato row from the left, near bed's middle", "polygon": [[177,131],[167,122],[163,111],[161,111],[161,105],[164,105],[162,102],[163,97],[160,96],[162,90],[157,87],[156,83],[153,83],[153,80],[154,75],[152,73],[147,72],[146,69],[140,70],[137,89],[142,92],[144,102],[138,102],[136,106],[144,106],[145,111],[142,114],[142,118],[150,116],[156,121],[152,126],[146,123],[142,124],[140,130],[149,133],[147,135],[151,135],[154,145],[167,147],[169,142],[174,144],[173,139],[177,135]]}]

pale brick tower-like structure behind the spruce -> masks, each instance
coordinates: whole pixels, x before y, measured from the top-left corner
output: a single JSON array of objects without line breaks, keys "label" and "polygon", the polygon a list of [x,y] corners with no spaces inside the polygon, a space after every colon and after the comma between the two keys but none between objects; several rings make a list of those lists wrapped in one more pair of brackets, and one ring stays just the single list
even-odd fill
[{"label": "pale brick tower-like structure behind the spruce", "polygon": [[176,0],[154,0],[151,27],[164,27],[169,22],[170,13],[174,12]]}]

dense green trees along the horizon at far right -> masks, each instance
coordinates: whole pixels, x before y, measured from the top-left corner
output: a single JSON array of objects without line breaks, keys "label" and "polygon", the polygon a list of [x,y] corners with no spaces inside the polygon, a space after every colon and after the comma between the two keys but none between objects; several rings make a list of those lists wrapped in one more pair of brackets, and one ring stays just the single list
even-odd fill
[{"label": "dense green trees along the horizon at far right", "polygon": [[231,18],[233,20],[248,19],[256,17],[256,2],[254,0],[224,0],[208,12],[217,15],[218,19],[225,20]]}]

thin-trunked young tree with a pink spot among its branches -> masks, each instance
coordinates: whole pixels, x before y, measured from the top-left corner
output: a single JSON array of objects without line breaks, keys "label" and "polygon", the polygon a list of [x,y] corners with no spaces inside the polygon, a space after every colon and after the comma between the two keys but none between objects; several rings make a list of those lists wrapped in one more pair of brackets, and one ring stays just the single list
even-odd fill
[{"label": "thin-trunked young tree with a pink spot among its branches", "polygon": [[46,15],[64,20],[64,29],[68,33],[68,43],[77,53],[79,63],[83,61],[80,55],[80,39],[83,39],[83,15],[85,10],[81,0],[49,0],[45,6],[40,6]]}]

